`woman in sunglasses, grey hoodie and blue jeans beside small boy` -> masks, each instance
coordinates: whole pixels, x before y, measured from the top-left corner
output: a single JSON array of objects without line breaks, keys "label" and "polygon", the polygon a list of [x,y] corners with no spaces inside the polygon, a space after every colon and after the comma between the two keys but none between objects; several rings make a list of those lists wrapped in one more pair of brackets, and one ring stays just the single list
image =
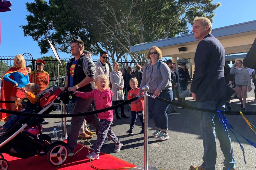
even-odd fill
[{"label": "woman in sunglasses, grey hoodie and blue jeans beside small boy", "polygon": [[[148,66],[143,69],[140,90],[137,96],[141,95],[144,85],[149,87],[148,94],[163,98],[168,101],[173,100],[173,91],[171,84],[171,72],[167,64],[162,62],[162,51],[153,46],[149,48],[147,59],[151,59]],[[168,117],[166,110],[170,104],[154,98],[148,98],[148,106],[154,114],[154,122],[157,131],[153,133],[153,137],[158,140],[169,139]]]}]

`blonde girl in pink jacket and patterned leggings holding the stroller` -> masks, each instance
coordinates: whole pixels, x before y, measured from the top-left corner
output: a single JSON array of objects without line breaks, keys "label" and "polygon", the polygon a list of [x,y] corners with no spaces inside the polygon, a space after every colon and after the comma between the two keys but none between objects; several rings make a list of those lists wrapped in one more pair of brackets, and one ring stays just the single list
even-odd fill
[{"label": "blonde girl in pink jacket and patterned leggings holding the stroller", "polygon": [[[98,75],[97,78],[94,79],[94,82],[95,82],[95,86],[98,89],[95,89],[88,93],[74,91],[73,94],[75,94],[77,97],[81,97],[85,99],[94,98],[94,102],[97,110],[112,106],[111,96],[113,95],[113,92],[110,90],[110,87],[108,86],[109,80],[107,76]],[[101,127],[98,132],[97,142],[93,147],[93,152],[86,156],[87,158],[92,160],[99,159],[100,148],[102,147],[105,141],[105,138],[107,136],[116,145],[114,149],[115,153],[119,152],[121,147],[123,146],[121,141],[116,137],[116,135],[113,133],[113,131],[110,128],[110,124],[113,121],[113,110],[99,113],[98,117],[101,122]]]}]

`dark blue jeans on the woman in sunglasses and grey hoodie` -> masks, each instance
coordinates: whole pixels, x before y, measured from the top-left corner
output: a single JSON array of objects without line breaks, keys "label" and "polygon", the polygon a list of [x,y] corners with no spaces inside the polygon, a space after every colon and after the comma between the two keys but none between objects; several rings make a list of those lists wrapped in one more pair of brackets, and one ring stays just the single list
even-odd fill
[{"label": "dark blue jeans on the woman in sunglasses and grey hoodie", "polygon": [[[148,93],[148,94],[153,95],[154,93]],[[172,101],[173,90],[172,89],[162,90],[162,92],[158,97],[168,101]],[[166,114],[166,110],[170,104],[148,97],[148,105],[152,113],[154,114],[154,122],[155,122],[156,129],[162,130],[162,131],[168,130],[168,117]]]}]

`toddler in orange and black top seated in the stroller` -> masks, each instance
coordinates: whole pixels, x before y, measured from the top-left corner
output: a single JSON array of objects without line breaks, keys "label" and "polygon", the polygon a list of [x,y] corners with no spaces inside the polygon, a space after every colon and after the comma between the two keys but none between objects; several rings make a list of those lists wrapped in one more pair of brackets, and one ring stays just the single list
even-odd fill
[{"label": "toddler in orange and black top seated in the stroller", "polygon": [[[35,83],[28,83],[25,85],[25,88],[20,88],[20,90],[26,95],[20,100],[15,101],[16,106],[20,106],[20,111],[22,112],[30,112],[33,108],[35,108],[38,104],[37,91],[39,86]],[[7,122],[0,127],[0,135],[4,135],[10,127],[12,127],[15,122],[24,116],[11,114]]]}]

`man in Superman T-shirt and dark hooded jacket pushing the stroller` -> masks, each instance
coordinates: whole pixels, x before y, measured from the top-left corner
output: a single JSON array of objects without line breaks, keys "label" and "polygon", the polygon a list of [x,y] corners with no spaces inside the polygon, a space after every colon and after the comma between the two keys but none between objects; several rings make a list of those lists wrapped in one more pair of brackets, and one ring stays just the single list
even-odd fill
[{"label": "man in Superman T-shirt and dark hooded jacket pushing the stroller", "polygon": [[[69,91],[81,91],[81,92],[90,92],[95,89],[95,84],[93,82],[95,74],[95,65],[91,60],[91,57],[86,56],[83,53],[84,43],[80,39],[73,40],[71,43],[71,54],[74,56],[66,66],[66,82],[65,86],[61,88],[64,91],[65,88],[68,88]],[[91,109],[90,99],[75,98],[76,104],[73,110],[73,113],[83,113]],[[92,109],[91,109],[92,110]],[[67,138],[67,147],[69,156],[74,155],[74,149],[77,144],[77,137],[81,124],[84,119],[86,122],[89,122],[96,129],[98,133],[101,123],[99,122],[98,117],[95,114],[87,116],[77,116],[72,117],[71,119],[71,128],[70,133]]]}]

